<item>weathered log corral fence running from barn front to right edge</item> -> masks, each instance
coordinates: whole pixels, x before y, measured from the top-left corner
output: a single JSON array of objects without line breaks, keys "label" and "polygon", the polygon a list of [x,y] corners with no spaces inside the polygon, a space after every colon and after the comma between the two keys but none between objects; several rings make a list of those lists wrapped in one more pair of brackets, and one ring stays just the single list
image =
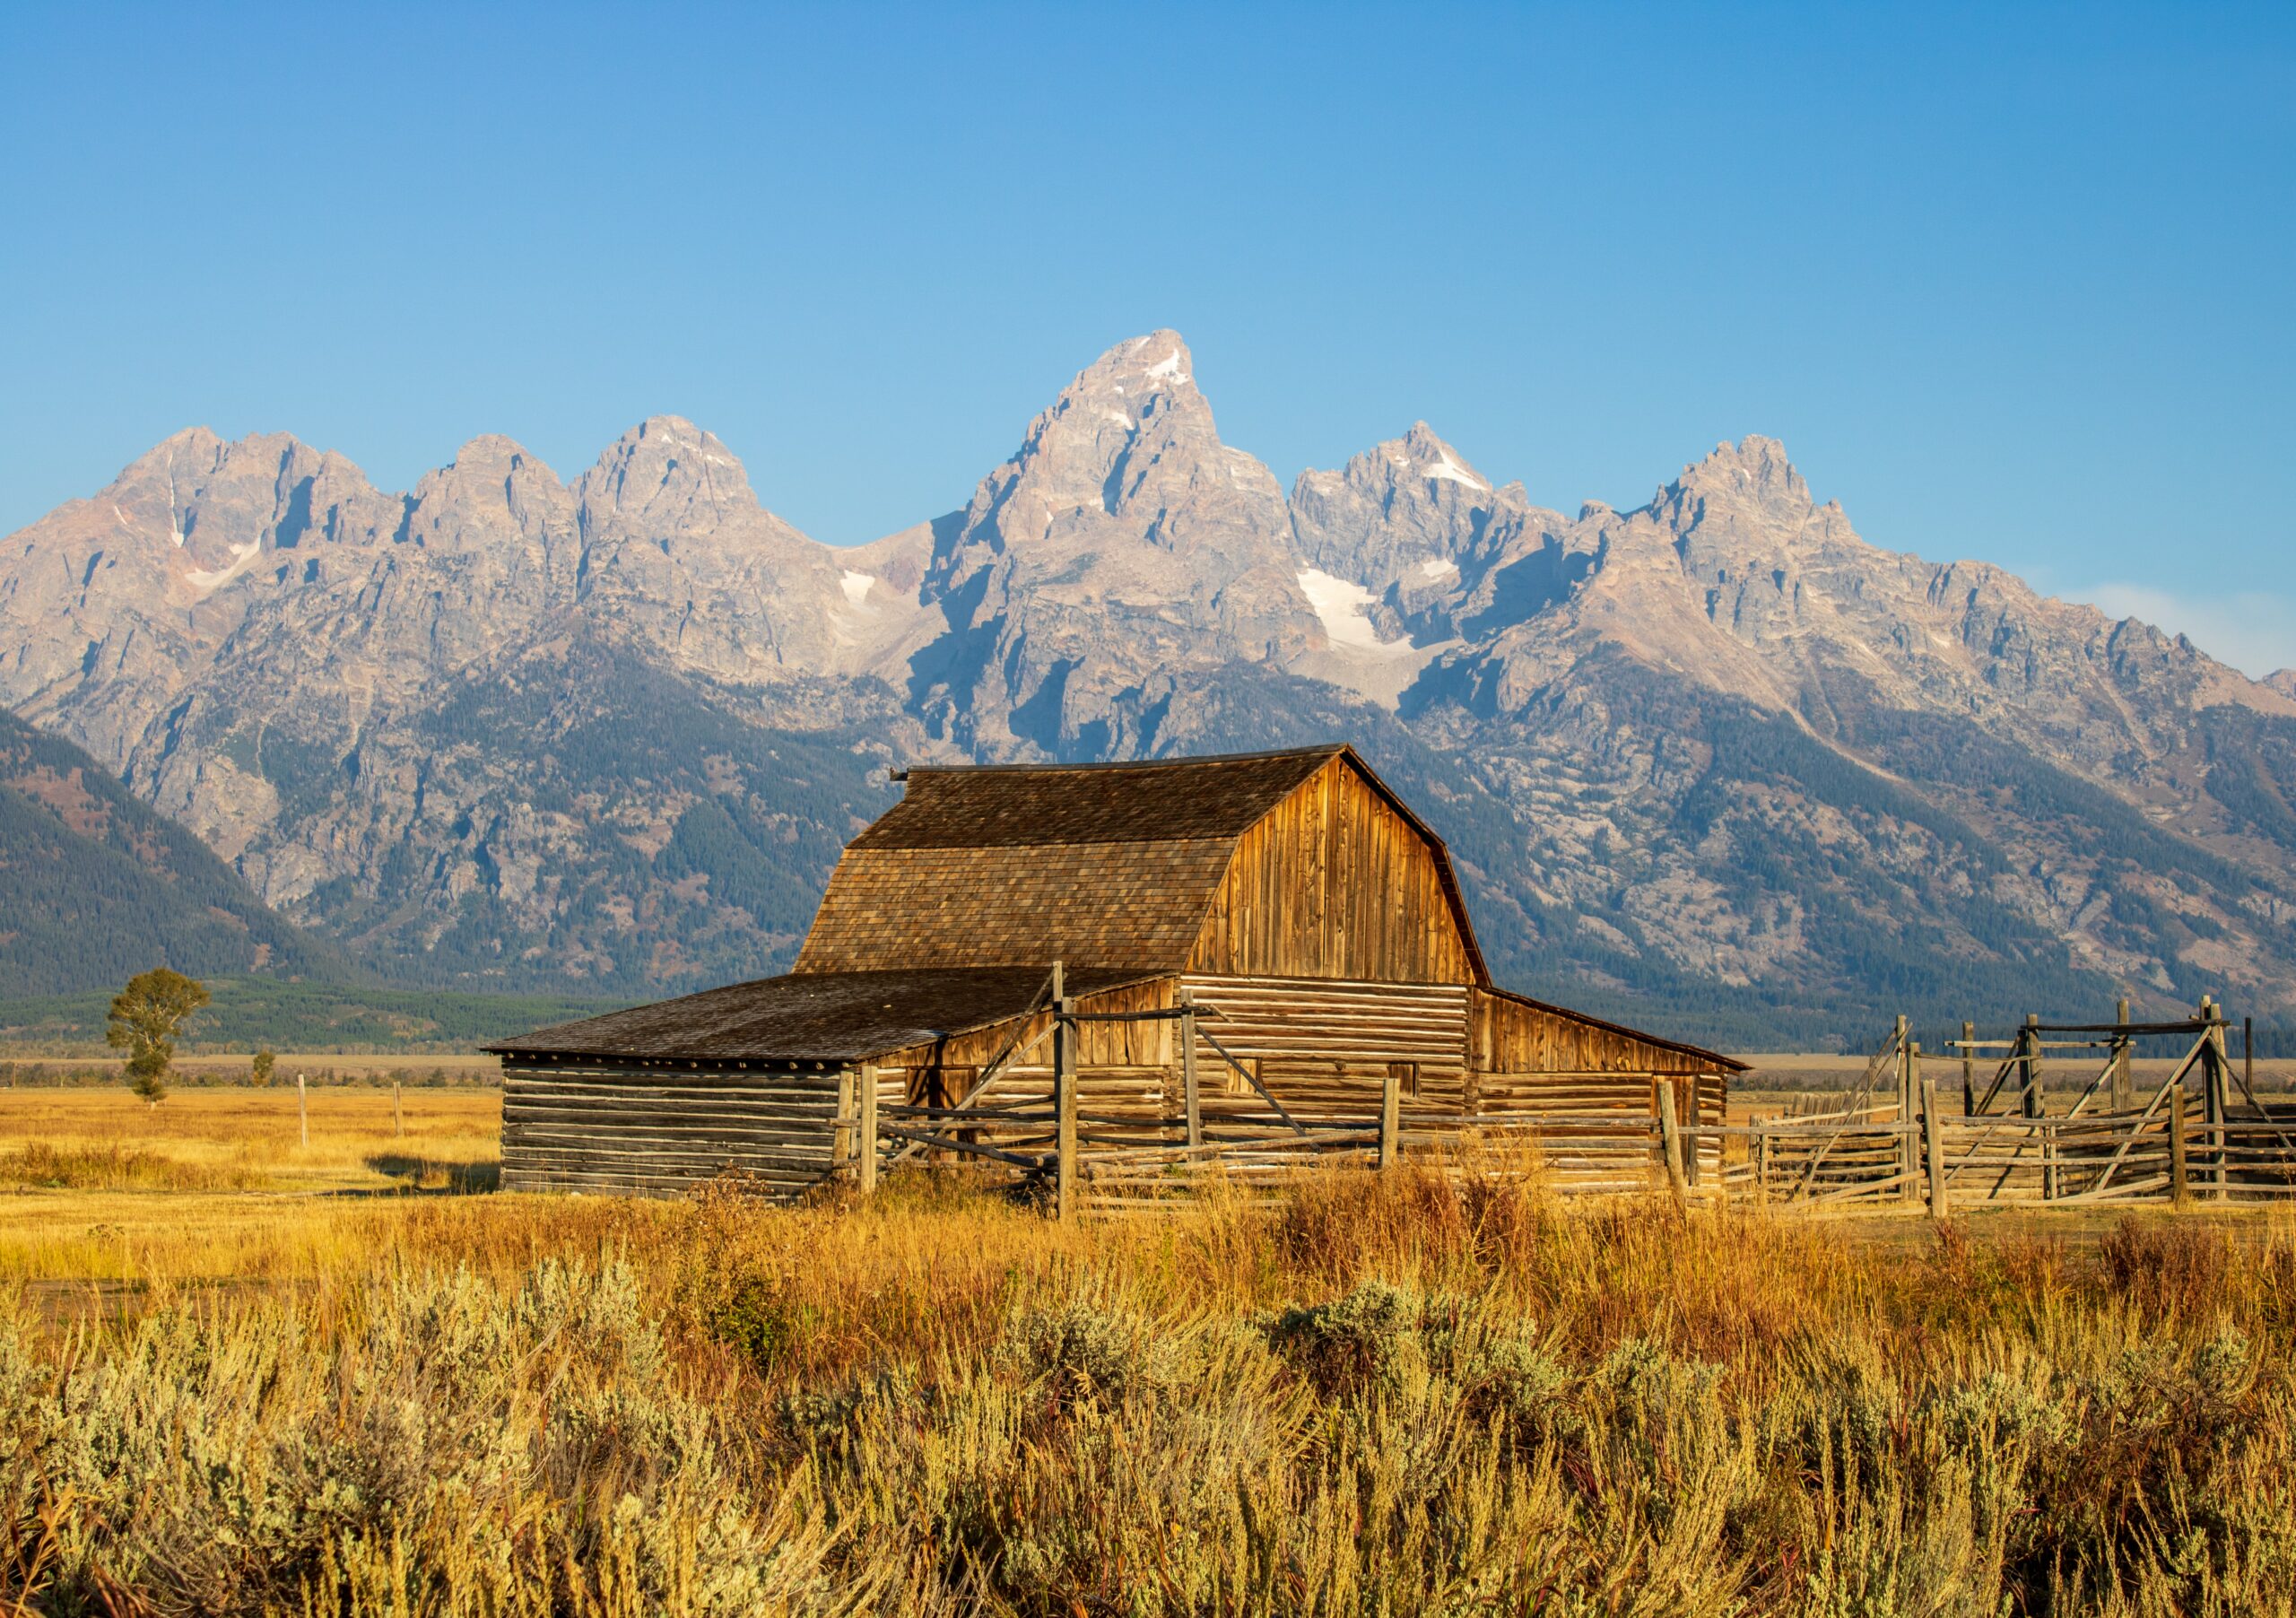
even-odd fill
[{"label": "weathered log corral fence running from barn front to right edge", "polygon": [[[1538,1175],[1566,1196],[1671,1191],[1685,1203],[1938,1216],[1993,1203],[2296,1198],[2296,1109],[2257,1097],[2245,1049],[2234,1065],[2213,1001],[2174,1021],[2133,1024],[2126,1003],[2112,1024],[2027,1019],[2004,1040],[1979,1040],[1965,1024],[1947,1056],[1924,1053],[1899,1019],[1841,1109],[1688,1122],[1676,1081],[1658,1074],[1646,1106],[1621,1106],[1612,1083],[1582,1092],[1600,1104],[1568,1111],[1564,1083],[1541,1111],[1405,1109],[1401,1069],[1378,1111],[1359,1086],[1341,1083],[1293,1088],[1286,1104],[1226,1049],[1212,1008],[1182,998],[1079,1012],[1056,982],[1047,998],[1052,1017],[1038,1033],[1015,1035],[948,1106],[886,1099],[870,1067],[840,1079],[831,1120],[840,1173],[872,1189],[895,1164],[969,1161],[1033,1184],[1063,1219],[1150,1212],[1215,1182],[1277,1191],[1304,1168],[1378,1170],[1405,1157]],[[1081,1026],[1155,1019],[1180,1024],[1178,1095],[1159,1072],[1079,1069]],[[2181,1058],[2165,1083],[2138,1092],[2133,1051],[2163,1040]],[[2069,1058],[2073,1086],[2050,1111],[2048,1081]]]}]

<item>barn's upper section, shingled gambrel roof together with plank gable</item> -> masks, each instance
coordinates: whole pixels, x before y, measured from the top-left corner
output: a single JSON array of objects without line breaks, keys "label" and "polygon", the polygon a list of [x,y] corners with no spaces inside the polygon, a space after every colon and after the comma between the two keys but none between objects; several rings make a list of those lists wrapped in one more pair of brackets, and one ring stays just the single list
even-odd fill
[{"label": "barn's upper section, shingled gambrel roof together with plank gable", "polygon": [[907,783],[838,861],[799,973],[1488,982],[1442,842],[1350,748]]}]

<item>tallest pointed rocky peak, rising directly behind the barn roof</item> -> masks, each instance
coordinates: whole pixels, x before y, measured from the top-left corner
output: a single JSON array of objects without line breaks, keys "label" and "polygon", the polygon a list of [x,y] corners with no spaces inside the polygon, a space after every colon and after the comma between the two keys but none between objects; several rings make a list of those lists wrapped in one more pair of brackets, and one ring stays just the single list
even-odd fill
[{"label": "tallest pointed rocky peak, rising directly behind the barn roof", "polygon": [[932,523],[948,636],[912,666],[937,737],[1001,757],[1134,753],[1182,686],[1322,638],[1274,475],[1219,443],[1178,333],[1109,349]]}]

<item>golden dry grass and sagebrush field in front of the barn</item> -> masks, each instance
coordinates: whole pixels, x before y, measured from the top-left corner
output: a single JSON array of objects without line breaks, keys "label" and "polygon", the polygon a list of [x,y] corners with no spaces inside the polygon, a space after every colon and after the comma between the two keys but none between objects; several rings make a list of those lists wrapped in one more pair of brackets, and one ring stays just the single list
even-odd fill
[{"label": "golden dry grass and sagebrush field in front of the barn", "polygon": [[2285,1216],[487,1193],[0,1095],[0,1611],[2289,1613]]}]

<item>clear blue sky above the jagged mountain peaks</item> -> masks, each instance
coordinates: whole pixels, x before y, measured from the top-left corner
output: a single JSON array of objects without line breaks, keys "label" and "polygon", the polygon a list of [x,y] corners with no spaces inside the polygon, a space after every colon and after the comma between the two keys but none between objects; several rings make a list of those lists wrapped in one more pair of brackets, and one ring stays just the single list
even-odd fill
[{"label": "clear blue sky above the jagged mountain peaks", "polygon": [[[675,411],[831,542],[1180,328],[1281,477],[1786,441],[1860,530],[2296,663],[2296,7],[30,7],[0,532],[207,422],[409,487]],[[2147,597],[2144,592],[2151,592]]]}]

